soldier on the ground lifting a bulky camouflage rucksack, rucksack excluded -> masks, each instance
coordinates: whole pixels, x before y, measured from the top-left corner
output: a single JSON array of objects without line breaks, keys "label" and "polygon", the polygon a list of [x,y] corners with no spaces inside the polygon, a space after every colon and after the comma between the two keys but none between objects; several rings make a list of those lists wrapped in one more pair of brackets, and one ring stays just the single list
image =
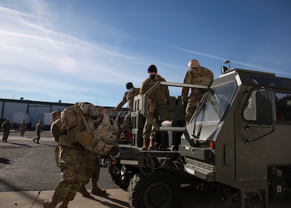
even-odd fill
[{"label": "soldier on the ground lifting a bulky camouflage rucksack, rucksack excluded", "polygon": [[60,121],[60,111],[52,113],[53,124],[51,125],[51,134],[55,141],[60,145],[60,163],[62,180],[58,183],[51,201],[44,202],[44,208],[55,208],[58,203],[59,208],[67,208],[69,201],[73,200],[84,180],[85,175],[85,148],[80,144],[71,144],[67,136],[67,130],[62,128]]}]

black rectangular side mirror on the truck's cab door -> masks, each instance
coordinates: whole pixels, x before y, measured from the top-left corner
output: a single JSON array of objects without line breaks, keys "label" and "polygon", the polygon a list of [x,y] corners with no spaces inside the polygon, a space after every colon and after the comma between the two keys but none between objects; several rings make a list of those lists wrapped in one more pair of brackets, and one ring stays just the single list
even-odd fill
[{"label": "black rectangular side mirror on the truck's cab door", "polygon": [[270,89],[256,92],[256,121],[258,125],[272,125],[274,123],[274,99]]}]

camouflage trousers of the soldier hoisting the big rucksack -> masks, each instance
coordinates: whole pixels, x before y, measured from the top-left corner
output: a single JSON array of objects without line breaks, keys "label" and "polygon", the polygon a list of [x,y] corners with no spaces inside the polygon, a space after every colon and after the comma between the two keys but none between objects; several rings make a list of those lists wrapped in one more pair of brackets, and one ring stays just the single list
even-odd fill
[{"label": "camouflage trousers of the soldier hoisting the big rucksack", "polygon": [[73,200],[85,175],[85,155],[83,148],[60,146],[62,180],[58,183],[52,202]]}]

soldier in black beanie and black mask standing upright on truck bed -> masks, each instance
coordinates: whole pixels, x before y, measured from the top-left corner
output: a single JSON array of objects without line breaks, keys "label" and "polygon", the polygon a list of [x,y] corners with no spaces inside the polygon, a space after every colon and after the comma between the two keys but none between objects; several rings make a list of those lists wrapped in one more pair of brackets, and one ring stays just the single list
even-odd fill
[{"label": "soldier in black beanie and black mask standing upright on truck bed", "polygon": [[[150,65],[148,67],[149,78],[146,78],[142,85],[139,94],[145,94],[155,83],[159,81],[166,80],[157,74],[157,67],[155,65]],[[168,86],[161,85],[159,88],[155,89],[152,94],[150,94],[148,99],[148,106],[150,111],[150,116],[155,122],[159,124],[159,105],[170,105],[170,94]],[[157,130],[152,126],[152,124],[146,120],[143,127],[143,146],[141,150],[157,150],[158,147],[155,145],[157,141]]]}]

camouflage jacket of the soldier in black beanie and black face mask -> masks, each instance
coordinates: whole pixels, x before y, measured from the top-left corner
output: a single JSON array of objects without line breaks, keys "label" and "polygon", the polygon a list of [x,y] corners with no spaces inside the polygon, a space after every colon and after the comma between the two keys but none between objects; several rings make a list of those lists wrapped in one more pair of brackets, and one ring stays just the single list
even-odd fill
[{"label": "camouflage jacket of the soldier in black beanie and black face mask", "polygon": [[[166,82],[166,80],[162,78],[159,74],[157,74],[156,79],[145,79],[141,85],[141,90],[139,94],[145,94],[145,92],[147,92],[150,87],[152,87],[153,85],[155,85],[155,83],[159,81]],[[150,94],[148,98],[151,99],[152,102],[156,104],[156,106],[170,105],[170,93],[168,86],[160,85],[157,89],[155,89],[154,92],[152,92],[152,94]]]}]

